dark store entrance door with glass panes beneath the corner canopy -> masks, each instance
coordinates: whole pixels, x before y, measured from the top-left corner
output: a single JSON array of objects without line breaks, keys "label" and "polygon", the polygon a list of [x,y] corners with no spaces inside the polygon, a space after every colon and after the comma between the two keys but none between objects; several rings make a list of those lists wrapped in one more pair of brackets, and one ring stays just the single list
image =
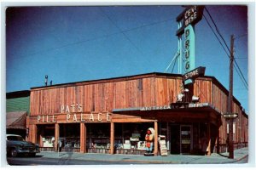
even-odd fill
[{"label": "dark store entrance door with glass panes beneath the corner canopy", "polygon": [[192,149],[192,127],[190,125],[181,125],[180,127],[180,150],[181,154],[189,154]]}]

